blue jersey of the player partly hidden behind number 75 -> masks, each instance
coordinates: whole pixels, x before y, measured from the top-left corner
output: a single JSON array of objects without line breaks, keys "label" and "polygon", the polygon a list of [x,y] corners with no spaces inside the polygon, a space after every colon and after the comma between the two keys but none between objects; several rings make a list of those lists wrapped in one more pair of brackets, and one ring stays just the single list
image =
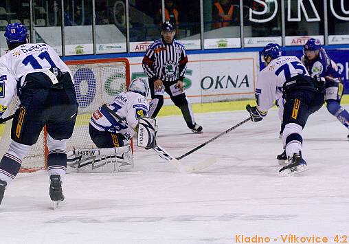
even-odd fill
[{"label": "blue jersey of the player partly hidden behind number 75", "polygon": [[329,76],[331,78],[340,78],[337,64],[330,59],[323,47],[320,48],[317,58],[308,60],[308,58],[303,55],[301,60],[311,76],[317,75],[320,77]]}]

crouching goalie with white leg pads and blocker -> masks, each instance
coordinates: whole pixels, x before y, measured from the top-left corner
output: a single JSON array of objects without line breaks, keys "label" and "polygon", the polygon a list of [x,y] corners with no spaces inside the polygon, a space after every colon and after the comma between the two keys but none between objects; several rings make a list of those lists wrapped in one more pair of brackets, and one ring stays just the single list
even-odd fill
[{"label": "crouching goalie with white leg pads and blocker", "polygon": [[67,173],[113,173],[130,170],[133,168],[130,142],[139,128],[142,133],[137,144],[146,148],[156,146],[155,119],[144,118],[149,109],[146,100],[148,90],[146,80],[135,78],[128,91],[119,93],[113,102],[102,104],[92,114],[89,135],[97,148],[69,151]]}]

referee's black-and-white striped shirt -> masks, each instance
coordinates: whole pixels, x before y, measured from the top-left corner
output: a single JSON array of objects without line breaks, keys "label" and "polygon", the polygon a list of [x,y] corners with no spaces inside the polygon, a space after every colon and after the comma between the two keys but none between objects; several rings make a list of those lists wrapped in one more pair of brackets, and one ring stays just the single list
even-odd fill
[{"label": "referee's black-and-white striped shirt", "polygon": [[150,81],[160,79],[163,82],[174,82],[183,80],[187,63],[188,57],[182,43],[174,39],[168,44],[161,38],[146,50],[143,69]]}]

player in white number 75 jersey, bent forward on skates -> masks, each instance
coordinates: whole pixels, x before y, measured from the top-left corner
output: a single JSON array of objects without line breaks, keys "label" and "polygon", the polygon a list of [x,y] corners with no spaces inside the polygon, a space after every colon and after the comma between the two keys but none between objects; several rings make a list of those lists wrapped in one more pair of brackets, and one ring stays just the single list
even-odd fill
[{"label": "player in white number 75 jersey, bent forward on skates", "polygon": [[[256,85],[257,106],[246,109],[254,122],[267,115],[274,101],[282,101],[284,132],[282,143],[289,164],[280,175],[292,175],[307,169],[302,158],[302,129],[311,113],[324,104],[324,81],[312,78],[295,56],[282,56],[278,44],[270,43],[262,50],[265,68],[260,71]],[[282,99],[281,99],[282,98]]]}]

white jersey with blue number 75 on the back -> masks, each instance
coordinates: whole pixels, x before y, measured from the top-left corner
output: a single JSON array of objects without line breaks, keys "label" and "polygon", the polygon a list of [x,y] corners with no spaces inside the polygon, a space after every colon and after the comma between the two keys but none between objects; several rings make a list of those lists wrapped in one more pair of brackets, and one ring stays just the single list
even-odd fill
[{"label": "white jersey with blue number 75 on the back", "polygon": [[258,109],[266,113],[273,107],[275,100],[282,104],[284,82],[297,75],[310,76],[296,56],[281,56],[271,60],[258,74],[255,93]]}]

